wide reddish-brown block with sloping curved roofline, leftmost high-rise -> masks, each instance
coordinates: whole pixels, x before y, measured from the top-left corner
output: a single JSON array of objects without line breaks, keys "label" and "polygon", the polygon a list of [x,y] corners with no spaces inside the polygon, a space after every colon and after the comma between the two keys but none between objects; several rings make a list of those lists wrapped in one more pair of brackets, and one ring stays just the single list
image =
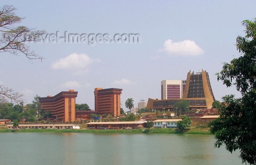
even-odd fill
[{"label": "wide reddish-brown block with sloping curved roofline, leftmost high-rise", "polygon": [[75,103],[78,92],[74,89],[62,91],[55,96],[39,97],[40,107],[43,112],[49,111],[49,119],[61,122],[75,121]]}]

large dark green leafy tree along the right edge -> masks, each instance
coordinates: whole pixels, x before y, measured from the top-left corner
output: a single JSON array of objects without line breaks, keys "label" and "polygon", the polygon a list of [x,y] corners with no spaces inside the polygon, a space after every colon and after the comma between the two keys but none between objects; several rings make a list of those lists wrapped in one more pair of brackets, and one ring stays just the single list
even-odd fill
[{"label": "large dark green leafy tree along the right edge", "polygon": [[244,20],[245,37],[238,36],[237,50],[241,56],[230,64],[223,63],[217,74],[227,87],[236,85],[242,97],[224,96],[220,117],[210,123],[215,134],[215,147],[226,146],[231,153],[240,150],[242,162],[256,164],[256,19]]}]

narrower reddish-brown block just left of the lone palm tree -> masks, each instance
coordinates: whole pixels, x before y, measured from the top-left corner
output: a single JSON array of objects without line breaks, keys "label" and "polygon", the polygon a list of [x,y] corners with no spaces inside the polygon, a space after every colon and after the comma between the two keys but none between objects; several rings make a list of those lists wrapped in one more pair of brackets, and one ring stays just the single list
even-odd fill
[{"label": "narrower reddish-brown block just left of the lone palm tree", "polygon": [[95,88],[94,108],[97,114],[110,114],[114,118],[120,116],[120,95],[123,89]]}]

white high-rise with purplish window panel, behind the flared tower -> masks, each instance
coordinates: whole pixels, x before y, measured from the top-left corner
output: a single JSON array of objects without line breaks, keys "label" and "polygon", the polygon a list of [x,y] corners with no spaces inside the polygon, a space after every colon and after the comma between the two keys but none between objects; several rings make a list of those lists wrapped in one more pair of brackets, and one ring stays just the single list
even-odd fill
[{"label": "white high-rise with purplish window panel, behind the flared tower", "polygon": [[183,96],[186,80],[161,81],[161,99],[180,99]]}]

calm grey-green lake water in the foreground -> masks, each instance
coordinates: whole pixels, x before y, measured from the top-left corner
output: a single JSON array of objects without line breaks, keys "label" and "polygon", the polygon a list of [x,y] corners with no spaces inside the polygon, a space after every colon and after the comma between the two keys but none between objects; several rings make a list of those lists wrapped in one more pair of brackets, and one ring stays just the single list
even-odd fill
[{"label": "calm grey-green lake water in the foreground", "polygon": [[3,165],[240,165],[213,135],[0,133]]}]

